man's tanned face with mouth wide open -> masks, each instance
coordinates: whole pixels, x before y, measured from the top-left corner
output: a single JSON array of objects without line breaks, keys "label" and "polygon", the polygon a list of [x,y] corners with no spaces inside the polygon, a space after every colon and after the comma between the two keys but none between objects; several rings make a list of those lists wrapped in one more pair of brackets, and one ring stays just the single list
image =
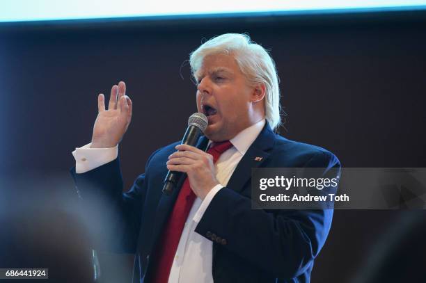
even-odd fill
[{"label": "man's tanned face with mouth wide open", "polygon": [[235,58],[226,54],[206,56],[195,74],[197,109],[209,120],[204,134],[219,142],[235,137],[253,124],[253,92]]}]

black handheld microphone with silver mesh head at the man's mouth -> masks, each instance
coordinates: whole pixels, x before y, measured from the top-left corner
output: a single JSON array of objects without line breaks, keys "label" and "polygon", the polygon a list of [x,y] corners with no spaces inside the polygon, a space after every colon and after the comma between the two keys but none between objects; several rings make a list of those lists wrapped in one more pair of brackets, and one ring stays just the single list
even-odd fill
[{"label": "black handheld microphone with silver mesh head at the man's mouth", "polygon": [[[188,128],[185,131],[184,137],[182,138],[181,145],[196,145],[200,134],[207,129],[209,121],[203,113],[194,113],[189,116]],[[173,190],[178,186],[180,181],[184,179],[185,174],[183,172],[168,171],[166,179],[164,179],[163,193],[165,195],[171,195]]]}]

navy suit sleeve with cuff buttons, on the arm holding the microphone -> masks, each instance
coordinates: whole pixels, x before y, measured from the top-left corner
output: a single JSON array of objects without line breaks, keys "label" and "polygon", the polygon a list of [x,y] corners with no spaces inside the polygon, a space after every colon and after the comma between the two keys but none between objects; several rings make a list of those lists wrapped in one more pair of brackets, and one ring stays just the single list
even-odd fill
[{"label": "navy suit sleeve with cuff buttons, on the arm holding the microphone", "polygon": [[[329,152],[315,154],[303,167],[326,168],[323,176],[340,172],[338,159]],[[250,199],[232,188],[222,188],[207,207],[196,232],[209,239],[215,234],[225,240],[221,241],[223,248],[271,276],[288,279],[310,268],[324,245],[332,217],[332,209],[251,209]]]}]

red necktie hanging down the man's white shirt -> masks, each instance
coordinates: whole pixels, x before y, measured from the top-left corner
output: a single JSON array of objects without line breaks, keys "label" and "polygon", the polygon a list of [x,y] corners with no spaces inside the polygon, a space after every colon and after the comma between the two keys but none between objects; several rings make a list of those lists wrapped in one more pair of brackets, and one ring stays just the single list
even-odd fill
[{"label": "red necktie hanging down the man's white shirt", "polygon": [[[213,143],[207,153],[212,154],[213,161],[216,163],[219,156],[230,147],[232,147],[232,144],[229,140]],[[178,250],[180,235],[195,200],[196,195],[191,190],[189,179],[187,178],[180,189],[178,199],[175,202],[170,218],[168,218],[166,227],[164,227],[161,240],[157,244],[157,262],[154,264],[155,270],[152,282],[168,282],[173,259],[175,258],[176,250]]]}]

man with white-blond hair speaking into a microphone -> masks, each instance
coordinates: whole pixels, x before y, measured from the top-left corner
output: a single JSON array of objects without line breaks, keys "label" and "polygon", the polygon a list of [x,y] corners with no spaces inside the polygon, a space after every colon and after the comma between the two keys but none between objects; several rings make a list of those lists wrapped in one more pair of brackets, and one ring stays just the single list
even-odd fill
[{"label": "man with white-blond hair speaking into a microphone", "polygon": [[[338,159],[274,133],[280,124],[276,68],[247,35],[205,42],[190,64],[197,108],[209,122],[198,147],[209,143],[207,152],[179,143],[158,149],[121,194],[117,147],[132,101],[120,82],[108,110],[98,97],[92,143],[73,152],[81,198],[87,207],[102,195],[118,211],[122,226],[111,229],[113,243],[136,254],[134,282],[309,282],[333,211],[251,209],[251,168],[332,168]],[[215,152],[219,147],[223,152]],[[171,196],[161,193],[168,170],[187,174]]]}]

